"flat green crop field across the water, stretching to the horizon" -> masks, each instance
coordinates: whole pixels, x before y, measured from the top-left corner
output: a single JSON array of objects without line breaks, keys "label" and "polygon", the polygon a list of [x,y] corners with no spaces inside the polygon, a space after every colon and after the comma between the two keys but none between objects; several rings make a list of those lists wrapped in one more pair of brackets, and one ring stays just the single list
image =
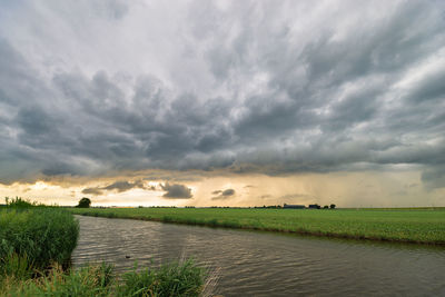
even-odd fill
[{"label": "flat green crop field across the water, stretching to the horizon", "polygon": [[89,208],[73,214],[352,239],[445,245],[445,209]]}]

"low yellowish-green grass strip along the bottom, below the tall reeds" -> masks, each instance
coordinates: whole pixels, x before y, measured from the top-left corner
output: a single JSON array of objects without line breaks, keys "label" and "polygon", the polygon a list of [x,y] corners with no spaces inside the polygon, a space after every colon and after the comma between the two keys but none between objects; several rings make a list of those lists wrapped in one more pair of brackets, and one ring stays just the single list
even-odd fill
[{"label": "low yellowish-green grass strip along the bottom, below the tall reeds", "polygon": [[0,280],[0,296],[199,296],[205,270],[192,260],[172,263],[159,268],[126,273],[116,278],[112,266],[101,264],[65,271],[55,267],[44,275],[27,280],[7,277]]}]

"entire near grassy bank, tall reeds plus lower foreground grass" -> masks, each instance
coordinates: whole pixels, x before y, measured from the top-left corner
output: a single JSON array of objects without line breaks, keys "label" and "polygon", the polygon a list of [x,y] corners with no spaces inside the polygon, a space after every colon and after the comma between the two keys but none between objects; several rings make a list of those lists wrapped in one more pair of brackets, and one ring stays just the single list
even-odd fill
[{"label": "entire near grassy bank, tall reeds plus lower foreground grass", "polygon": [[0,296],[199,296],[194,261],[116,277],[107,264],[70,267],[79,224],[71,212],[14,199],[0,209]]}]

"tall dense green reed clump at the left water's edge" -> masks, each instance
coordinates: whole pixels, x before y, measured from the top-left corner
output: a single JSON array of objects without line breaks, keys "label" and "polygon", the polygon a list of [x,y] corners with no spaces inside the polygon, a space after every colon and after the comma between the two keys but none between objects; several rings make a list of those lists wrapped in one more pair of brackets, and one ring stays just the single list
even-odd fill
[{"label": "tall dense green reed clump at the left water's edge", "polygon": [[21,263],[36,269],[44,269],[55,261],[68,265],[78,234],[78,221],[63,209],[0,209],[0,270],[7,259],[14,259],[13,255],[26,258]]}]

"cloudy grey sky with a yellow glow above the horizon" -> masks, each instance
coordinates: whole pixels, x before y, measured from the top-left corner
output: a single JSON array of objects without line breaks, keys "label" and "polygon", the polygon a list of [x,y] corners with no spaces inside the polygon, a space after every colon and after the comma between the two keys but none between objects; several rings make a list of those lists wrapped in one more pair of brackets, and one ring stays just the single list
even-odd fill
[{"label": "cloudy grey sky with a yellow glow above the horizon", "polygon": [[0,197],[445,206],[445,2],[2,0],[0,139]]}]

